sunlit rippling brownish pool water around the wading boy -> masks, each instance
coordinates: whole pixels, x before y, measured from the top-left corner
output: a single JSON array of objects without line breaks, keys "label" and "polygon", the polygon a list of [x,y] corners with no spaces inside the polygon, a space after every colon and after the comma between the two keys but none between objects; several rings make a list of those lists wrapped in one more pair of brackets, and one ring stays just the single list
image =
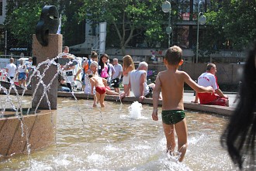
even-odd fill
[{"label": "sunlit rippling brownish pool water around the wading boy", "polygon": [[30,158],[5,159],[0,170],[238,170],[220,146],[227,118],[186,111],[189,146],[177,162],[165,152],[161,120],[151,119],[152,107],[143,104],[134,118],[130,105],[106,101],[106,108],[92,108],[89,100],[58,98],[56,144]]}]

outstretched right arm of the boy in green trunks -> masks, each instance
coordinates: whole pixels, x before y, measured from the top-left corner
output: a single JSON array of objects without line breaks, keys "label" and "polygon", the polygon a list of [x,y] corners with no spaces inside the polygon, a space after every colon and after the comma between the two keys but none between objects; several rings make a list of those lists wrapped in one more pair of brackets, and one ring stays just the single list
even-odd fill
[{"label": "outstretched right arm of the boy in green trunks", "polygon": [[189,87],[192,87],[192,89],[198,93],[203,93],[203,92],[213,93],[213,87],[199,86],[199,84],[196,84],[195,81],[191,79],[189,74],[186,74],[185,72],[184,72],[184,81],[186,84],[189,85]]}]

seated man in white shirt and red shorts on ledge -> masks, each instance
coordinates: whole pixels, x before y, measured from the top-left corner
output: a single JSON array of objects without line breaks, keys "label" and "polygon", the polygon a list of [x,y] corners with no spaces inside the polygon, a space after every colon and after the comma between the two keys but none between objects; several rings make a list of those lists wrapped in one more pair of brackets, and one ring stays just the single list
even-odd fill
[{"label": "seated man in white shirt and red shorts on ledge", "polygon": [[219,85],[217,83],[216,77],[216,65],[214,63],[207,64],[206,72],[201,74],[198,78],[198,84],[207,87],[213,87],[215,93],[199,93],[195,94],[195,101],[194,103],[198,103],[198,98],[200,104],[214,104],[220,106],[229,106],[229,101],[227,95],[224,95],[223,92],[220,90]]}]

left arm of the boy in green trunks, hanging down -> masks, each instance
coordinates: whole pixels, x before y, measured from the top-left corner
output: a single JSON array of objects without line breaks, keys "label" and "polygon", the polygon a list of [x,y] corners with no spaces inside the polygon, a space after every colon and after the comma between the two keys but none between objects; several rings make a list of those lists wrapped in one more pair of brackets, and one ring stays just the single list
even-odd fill
[{"label": "left arm of the boy in green trunks, hanging down", "polygon": [[157,107],[158,107],[158,100],[159,100],[159,95],[161,91],[161,81],[159,78],[159,74],[157,74],[157,78],[155,80],[155,87],[154,87],[154,92],[153,92],[153,112],[152,112],[152,118],[154,121],[158,120],[157,116]]}]

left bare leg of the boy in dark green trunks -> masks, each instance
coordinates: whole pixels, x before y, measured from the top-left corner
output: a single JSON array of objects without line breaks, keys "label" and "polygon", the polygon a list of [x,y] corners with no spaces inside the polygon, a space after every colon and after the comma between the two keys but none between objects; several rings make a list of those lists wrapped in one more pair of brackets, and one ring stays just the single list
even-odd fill
[{"label": "left bare leg of the boy in dark green trunks", "polygon": [[167,152],[175,151],[175,126],[163,123],[164,135],[166,138]]}]

